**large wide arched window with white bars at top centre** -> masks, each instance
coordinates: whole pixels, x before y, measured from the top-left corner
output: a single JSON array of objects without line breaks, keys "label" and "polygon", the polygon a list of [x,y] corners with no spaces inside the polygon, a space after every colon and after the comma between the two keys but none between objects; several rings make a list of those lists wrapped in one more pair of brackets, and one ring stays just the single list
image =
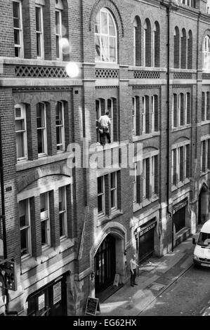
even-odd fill
[{"label": "large wide arched window with white bars at top centre", "polygon": [[117,28],[106,8],[96,16],[95,46],[96,62],[117,62]]}]

